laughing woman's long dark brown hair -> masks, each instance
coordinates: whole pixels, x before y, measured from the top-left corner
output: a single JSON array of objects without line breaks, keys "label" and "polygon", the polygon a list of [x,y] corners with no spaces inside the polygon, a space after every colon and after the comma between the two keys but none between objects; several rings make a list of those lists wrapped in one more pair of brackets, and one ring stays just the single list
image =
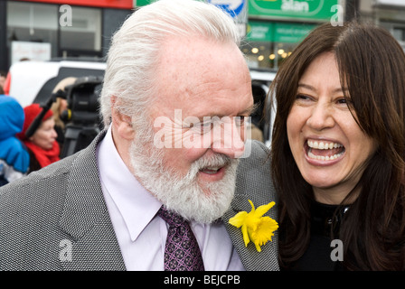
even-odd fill
[{"label": "laughing woman's long dark brown hair", "polygon": [[[363,132],[377,141],[344,215],[338,238],[348,270],[405,269],[405,55],[390,33],[372,24],[317,27],[278,70],[268,96],[277,114],[271,144],[272,177],[279,193],[280,266],[303,256],[310,239],[312,187],[297,168],[287,140],[287,117],[309,64],[332,51],[344,97]],[[273,99],[274,100],[274,99]],[[354,190],[353,190],[354,191]],[[342,204],[347,202],[351,193]]]}]

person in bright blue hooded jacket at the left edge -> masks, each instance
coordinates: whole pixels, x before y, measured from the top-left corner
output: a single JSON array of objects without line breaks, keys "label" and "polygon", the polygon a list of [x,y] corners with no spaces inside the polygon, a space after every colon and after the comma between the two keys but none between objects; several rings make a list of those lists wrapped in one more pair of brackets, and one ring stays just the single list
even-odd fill
[{"label": "person in bright blue hooded jacket at the left edge", "polygon": [[28,172],[30,156],[15,136],[23,126],[23,107],[14,98],[0,95],[0,186]]}]

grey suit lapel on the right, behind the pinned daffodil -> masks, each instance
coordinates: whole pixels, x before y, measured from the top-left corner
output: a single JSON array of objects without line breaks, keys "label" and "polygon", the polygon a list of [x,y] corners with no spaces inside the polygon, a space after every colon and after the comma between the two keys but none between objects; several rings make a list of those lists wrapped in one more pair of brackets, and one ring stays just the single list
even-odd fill
[{"label": "grey suit lapel on the right, behind the pinned daffodil", "polygon": [[256,208],[272,200],[276,201],[276,206],[271,208],[265,216],[278,219],[278,200],[276,200],[277,195],[270,177],[268,148],[263,146],[252,143],[250,157],[240,160],[237,170],[235,197],[231,202],[231,208],[222,217],[232,243],[240,255],[240,260],[245,268],[251,271],[279,269],[278,230],[275,231],[272,241],[268,241],[266,245],[261,246],[261,252],[258,252],[251,241],[245,247],[241,229],[229,224],[229,219],[240,211],[250,212],[249,200],[253,202]]}]

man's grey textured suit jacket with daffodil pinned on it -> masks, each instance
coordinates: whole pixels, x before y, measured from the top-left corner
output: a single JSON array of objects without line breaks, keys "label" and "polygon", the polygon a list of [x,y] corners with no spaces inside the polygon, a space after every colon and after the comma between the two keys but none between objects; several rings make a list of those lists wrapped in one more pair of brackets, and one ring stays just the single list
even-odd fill
[{"label": "man's grey textured suit jacket with daffodil pinned on it", "polygon": [[[0,270],[125,270],[99,181],[96,147],[0,188]],[[266,147],[253,145],[238,169],[235,199],[223,221],[248,270],[277,270],[277,238],[256,252],[228,219],[275,200]],[[270,210],[276,219],[276,210]],[[277,237],[277,236],[276,236]]]}]

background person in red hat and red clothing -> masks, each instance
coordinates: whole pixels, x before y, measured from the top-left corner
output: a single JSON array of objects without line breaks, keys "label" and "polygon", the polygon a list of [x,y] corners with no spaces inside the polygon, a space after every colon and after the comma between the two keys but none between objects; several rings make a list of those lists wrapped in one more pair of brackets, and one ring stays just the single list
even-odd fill
[{"label": "background person in red hat and red clothing", "polygon": [[25,135],[35,117],[41,112],[42,107],[39,104],[24,107],[25,119],[23,131],[17,135],[27,146],[30,153],[30,172],[37,171],[48,164],[60,160],[60,147],[58,142],[56,142],[58,135],[53,129],[55,121],[52,110],[48,110],[43,116],[41,125],[38,126],[33,135],[29,137]]}]

